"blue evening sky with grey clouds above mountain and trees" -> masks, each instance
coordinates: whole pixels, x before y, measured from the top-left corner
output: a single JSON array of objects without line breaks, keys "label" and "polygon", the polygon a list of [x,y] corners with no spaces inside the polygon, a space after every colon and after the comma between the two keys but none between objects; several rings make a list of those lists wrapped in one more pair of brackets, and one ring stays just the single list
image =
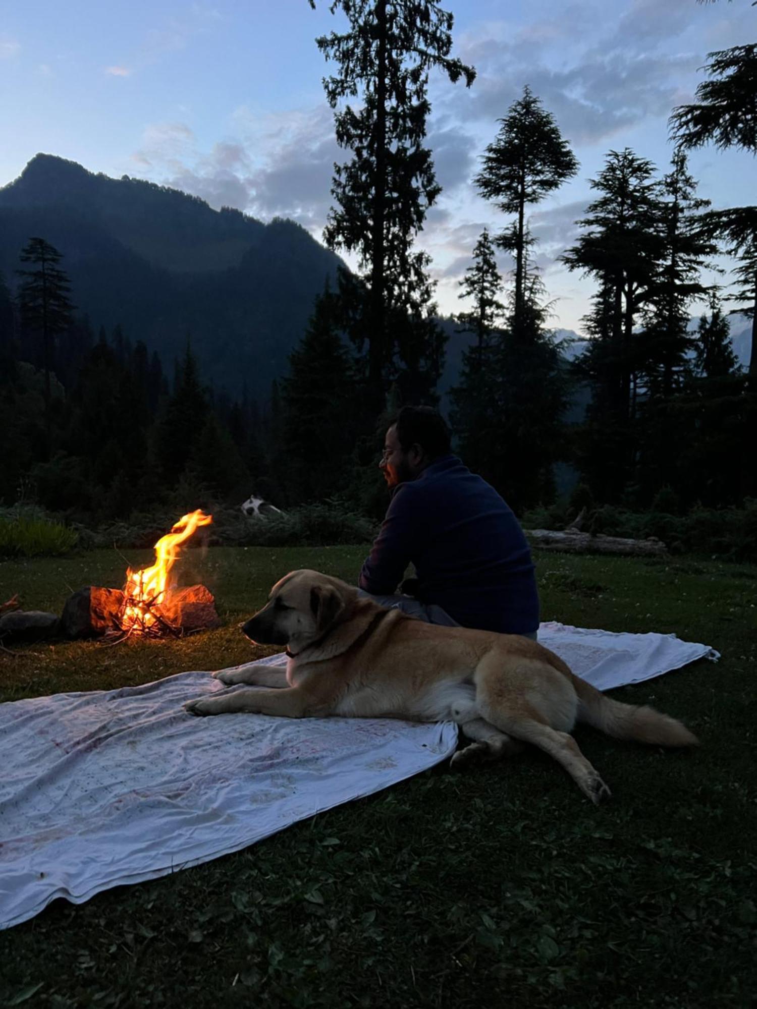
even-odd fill
[{"label": "blue evening sky with grey clouds above mountain and trees", "polygon": [[[556,257],[591,199],[611,149],[666,171],[667,117],[690,101],[713,49],[757,40],[750,0],[448,0],[455,52],[478,77],[436,77],[429,142],[444,192],[420,244],[437,301],[463,308],[458,282],[484,225],[505,219],[471,185],[483,148],[528,84],[581,162],[532,212],[552,324],[580,330],[593,287]],[[0,185],[44,151],[92,172],[175,186],[261,220],[292,217],[320,239],[333,138],[315,37],[340,26],[318,0],[24,0],[0,6]],[[754,202],[752,155],[690,156],[715,206]],[[503,257],[503,270],[509,263]]]}]

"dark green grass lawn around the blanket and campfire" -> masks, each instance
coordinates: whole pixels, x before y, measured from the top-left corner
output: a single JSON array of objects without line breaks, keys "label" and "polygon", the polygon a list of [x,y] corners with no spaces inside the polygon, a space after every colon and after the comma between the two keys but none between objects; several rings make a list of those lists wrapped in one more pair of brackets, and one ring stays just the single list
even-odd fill
[{"label": "dark green grass lawn around the blanket and campfire", "polygon": [[[0,653],[0,700],[217,669],[287,571],[353,581],[364,549],[214,549],[186,562],[223,627],[184,641]],[[151,561],[134,551],[132,564]],[[194,559],[193,559],[194,558]],[[723,653],[616,691],[682,718],[694,753],[576,738],[614,793],[594,808],[529,752],[440,766],[235,855],[0,932],[0,1006],[755,1005],[757,568],[537,555],[543,618],[674,632]],[[0,564],[0,601],[60,610],[120,586],[114,552]],[[0,873],[2,864],[0,863]]]}]

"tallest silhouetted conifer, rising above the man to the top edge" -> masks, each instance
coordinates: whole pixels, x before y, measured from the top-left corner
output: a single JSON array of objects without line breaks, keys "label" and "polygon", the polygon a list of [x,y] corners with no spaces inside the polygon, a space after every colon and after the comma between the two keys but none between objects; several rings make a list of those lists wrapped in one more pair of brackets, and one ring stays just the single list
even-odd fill
[{"label": "tallest silhouetted conifer, rising above the man to the top edge", "polygon": [[[420,367],[435,378],[441,368],[442,340],[430,318],[429,257],[413,250],[440,192],[431,151],[423,145],[431,109],[428,76],[438,68],[452,82],[464,77],[469,85],[474,72],[449,58],[453,18],[435,3],[333,0],[330,10],[337,9],[347,30],[317,42],[339,66],[324,88],[335,110],[337,142],[353,157],[335,166],[336,205],[324,236],[331,248],[356,252],[365,272],[367,395],[380,410],[399,370]],[[345,99],[359,106],[339,106]]]}]

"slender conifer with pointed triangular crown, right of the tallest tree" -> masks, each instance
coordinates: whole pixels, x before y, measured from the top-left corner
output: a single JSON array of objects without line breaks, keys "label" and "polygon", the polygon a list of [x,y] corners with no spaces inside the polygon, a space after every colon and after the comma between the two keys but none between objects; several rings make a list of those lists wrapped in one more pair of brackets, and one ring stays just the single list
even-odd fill
[{"label": "slender conifer with pointed triangular crown, right of the tallest tree", "polygon": [[523,97],[499,121],[502,127],[494,143],[486,147],[475,184],[503,213],[515,214],[515,221],[500,235],[498,244],[515,256],[513,319],[518,327],[528,286],[528,253],[534,241],[526,223],[526,208],[572,178],[578,161],[554,117],[530,88],[523,89]]}]

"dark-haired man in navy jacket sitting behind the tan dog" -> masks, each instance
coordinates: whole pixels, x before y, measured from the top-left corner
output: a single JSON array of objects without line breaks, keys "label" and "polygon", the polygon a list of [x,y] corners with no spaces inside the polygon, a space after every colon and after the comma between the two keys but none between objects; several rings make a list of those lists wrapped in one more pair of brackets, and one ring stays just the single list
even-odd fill
[{"label": "dark-haired man in navy jacket sitting behind the tan dog", "polygon": [[[392,501],[359,587],[431,624],[536,639],[539,596],[526,537],[495,488],[451,454],[442,416],[403,408],[379,465]],[[397,594],[410,563],[417,579]]]}]

